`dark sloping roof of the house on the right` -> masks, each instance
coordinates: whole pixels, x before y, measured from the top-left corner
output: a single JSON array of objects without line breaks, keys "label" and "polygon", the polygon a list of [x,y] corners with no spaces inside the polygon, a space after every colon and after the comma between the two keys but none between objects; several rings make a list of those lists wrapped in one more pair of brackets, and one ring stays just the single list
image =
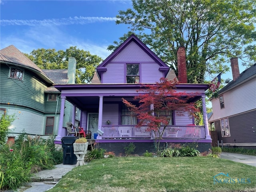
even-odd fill
[{"label": "dark sloping roof of the house on the right", "polygon": [[244,70],[242,73],[240,73],[239,77],[234,81],[230,81],[226,86],[224,86],[221,90],[217,92],[217,94],[221,94],[223,92],[226,92],[227,90],[230,90],[248,80],[251,78],[256,77],[256,63],[252,66],[250,66],[248,69]]}]

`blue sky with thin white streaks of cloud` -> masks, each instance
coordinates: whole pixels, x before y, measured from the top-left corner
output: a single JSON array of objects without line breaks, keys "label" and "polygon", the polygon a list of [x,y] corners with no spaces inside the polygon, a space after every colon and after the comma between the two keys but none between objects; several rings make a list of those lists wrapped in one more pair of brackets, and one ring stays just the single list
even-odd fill
[{"label": "blue sky with thin white streaks of cloud", "polygon": [[[105,59],[107,47],[128,32],[128,26],[115,24],[118,11],[127,8],[130,0],[0,0],[0,49],[14,45],[29,54],[77,46]],[[232,79],[231,69],[222,78]]]}]

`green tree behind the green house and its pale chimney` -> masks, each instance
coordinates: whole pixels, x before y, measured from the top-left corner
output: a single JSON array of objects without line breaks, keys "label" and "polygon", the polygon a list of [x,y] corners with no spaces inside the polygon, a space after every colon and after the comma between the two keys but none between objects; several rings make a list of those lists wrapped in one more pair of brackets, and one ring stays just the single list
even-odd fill
[{"label": "green tree behind the green house and its pale chimney", "polygon": [[102,58],[74,47],[66,51],[40,48],[25,54],[32,62],[41,69],[67,69],[68,58],[76,59],[76,82],[87,83],[92,80],[95,68],[102,62]]}]

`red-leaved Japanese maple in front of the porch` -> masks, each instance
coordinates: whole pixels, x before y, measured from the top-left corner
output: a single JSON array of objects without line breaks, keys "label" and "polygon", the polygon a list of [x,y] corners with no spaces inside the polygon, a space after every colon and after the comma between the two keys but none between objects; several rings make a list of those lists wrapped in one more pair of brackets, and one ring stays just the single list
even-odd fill
[{"label": "red-leaved Japanese maple in front of the porch", "polygon": [[188,112],[191,116],[195,116],[196,108],[194,102],[189,102],[196,93],[176,92],[178,80],[168,81],[161,78],[156,84],[144,85],[143,89],[137,92],[143,92],[134,97],[139,101],[140,105],[128,102],[123,98],[124,104],[134,114],[137,114],[137,126],[147,126],[147,131],[151,131],[154,139],[156,152],[159,153],[160,140],[166,130],[166,127],[172,120],[172,114],[175,111],[177,115],[184,115]]}]

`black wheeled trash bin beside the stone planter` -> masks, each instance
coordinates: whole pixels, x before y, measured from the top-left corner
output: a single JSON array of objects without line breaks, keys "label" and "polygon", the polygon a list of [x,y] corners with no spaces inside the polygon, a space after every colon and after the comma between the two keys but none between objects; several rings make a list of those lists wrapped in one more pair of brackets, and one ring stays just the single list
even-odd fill
[{"label": "black wheeled trash bin beside the stone planter", "polygon": [[63,148],[63,164],[64,165],[74,165],[77,162],[76,155],[74,154],[73,143],[78,137],[67,136],[62,137],[61,143]]}]

